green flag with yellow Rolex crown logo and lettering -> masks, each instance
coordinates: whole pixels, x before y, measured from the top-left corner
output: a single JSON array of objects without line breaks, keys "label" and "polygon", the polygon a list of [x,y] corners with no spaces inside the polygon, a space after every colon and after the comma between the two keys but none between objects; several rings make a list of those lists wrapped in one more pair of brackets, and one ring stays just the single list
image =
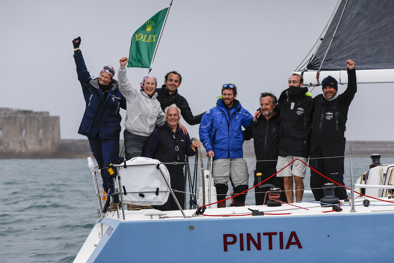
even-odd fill
[{"label": "green flag with yellow Rolex crown logo and lettering", "polygon": [[134,32],[127,67],[150,68],[168,8],[157,12]]}]

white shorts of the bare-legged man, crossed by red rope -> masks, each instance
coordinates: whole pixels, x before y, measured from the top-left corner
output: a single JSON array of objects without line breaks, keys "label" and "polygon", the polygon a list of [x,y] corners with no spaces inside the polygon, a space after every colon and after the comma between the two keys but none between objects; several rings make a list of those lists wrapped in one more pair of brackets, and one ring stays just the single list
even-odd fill
[{"label": "white shorts of the bare-legged man, crossed by red rope", "polygon": [[[283,167],[285,167],[295,159],[300,159],[305,163],[308,161],[308,159],[304,157],[278,156],[277,171],[280,171]],[[303,164],[301,161],[296,160],[291,165],[283,169],[281,172],[277,173],[277,176],[286,177],[286,176],[294,175],[294,176],[305,178],[305,173],[306,173],[306,165]]]}]

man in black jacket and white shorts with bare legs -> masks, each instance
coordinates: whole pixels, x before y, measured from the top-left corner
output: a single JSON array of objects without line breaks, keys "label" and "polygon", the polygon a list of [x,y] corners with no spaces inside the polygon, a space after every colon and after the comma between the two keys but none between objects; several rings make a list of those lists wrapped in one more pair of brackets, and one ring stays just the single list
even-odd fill
[{"label": "man in black jacket and white shorts with bare legs", "polygon": [[303,78],[293,74],[289,78],[289,88],[279,97],[278,107],[281,110],[279,129],[278,177],[283,177],[286,197],[289,203],[294,202],[293,178],[296,184],[296,202],[302,201],[303,178],[309,153],[309,136],[313,114],[313,99],[308,88],[303,87]]}]

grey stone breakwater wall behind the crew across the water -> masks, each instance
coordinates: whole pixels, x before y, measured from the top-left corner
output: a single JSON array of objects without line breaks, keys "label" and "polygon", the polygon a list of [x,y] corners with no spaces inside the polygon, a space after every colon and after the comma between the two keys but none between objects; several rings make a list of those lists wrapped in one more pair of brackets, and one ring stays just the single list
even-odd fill
[{"label": "grey stone breakwater wall behind the crew across the water", "polygon": [[[123,145],[123,140],[120,141]],[[244,157],[254,158],[253,140],[244,142]],[[205,149],[201,148],[203,156]],[[394,154],[394,141],[347,141],[345,155]],[[60,139],[60,118],[49,112],[0,108],[0,159],[86,158],[87,139]]]}]

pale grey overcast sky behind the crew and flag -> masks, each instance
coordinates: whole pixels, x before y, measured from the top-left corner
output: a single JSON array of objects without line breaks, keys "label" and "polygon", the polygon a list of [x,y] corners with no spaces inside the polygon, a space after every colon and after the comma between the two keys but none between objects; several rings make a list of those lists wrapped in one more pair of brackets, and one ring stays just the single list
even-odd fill
[{"label": "pale grey overcast sky behind the crew and flag", "polygon": [[[170,2],[3,1],[0,107],[49,112],[60,117],[62,139],[86,138],[77,133],[85,102],[72,39],[81,36],[80,48],[92,76],[98,77],[102,67],[110,64],[117,79],[119,59],[128,56],[134,31]],[[279,97],[288,88],[289,76],[312,49],[336,3],[174,0],[151,74],[161,86],[166,72],[180,72],[183,81],[178,91],[194,115],[215,106],[225,83],[237,85],[237,99],[254,113],[261,92]],[[147,74],[148,69],[127,68],[136,87]],[[338,92],[345,89],[346,85],[339,85]],[[312,91],[313,96],[319,93],[321,87]],[[359,85],[349,109],[347,140],[394,140],[393,96],[393,84]],[[122,127],[123,122],[124,118]],[[198,126],[183,123],[191,137],[198,138]]]}]

